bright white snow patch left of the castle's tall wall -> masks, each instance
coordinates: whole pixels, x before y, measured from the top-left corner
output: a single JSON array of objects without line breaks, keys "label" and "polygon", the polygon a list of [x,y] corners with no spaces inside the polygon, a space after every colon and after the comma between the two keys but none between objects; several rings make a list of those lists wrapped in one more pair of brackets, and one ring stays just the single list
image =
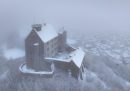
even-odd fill
[{"label": "bright white snow patch left of the castle's tall wall", "polygon": [[25,55],[24,51],[18,48],[4,49],[3,54],[4,57],[6,57],[8,60],[17,59]]}]

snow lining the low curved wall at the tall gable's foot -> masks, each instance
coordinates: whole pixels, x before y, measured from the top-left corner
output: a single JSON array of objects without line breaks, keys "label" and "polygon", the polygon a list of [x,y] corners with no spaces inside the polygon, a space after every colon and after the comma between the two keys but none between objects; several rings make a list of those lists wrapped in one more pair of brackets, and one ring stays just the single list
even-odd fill
[{"label": "snow lining the low curved wall at the tall gable's foot", "polygon": [[51,65],[51,68],[52,68],[52,71],[35,71],[34,69],[31,69],[31,68],[28,68],[26,66],[26,64],[22,64],[20,67],[19,67],[19,70],[24,73],[24,74],[39,74],[39,75],[45,75],[45,74],[48,74],[48,75],[51,75],[53,74],[54,72],[54,65],[52,64]]}]

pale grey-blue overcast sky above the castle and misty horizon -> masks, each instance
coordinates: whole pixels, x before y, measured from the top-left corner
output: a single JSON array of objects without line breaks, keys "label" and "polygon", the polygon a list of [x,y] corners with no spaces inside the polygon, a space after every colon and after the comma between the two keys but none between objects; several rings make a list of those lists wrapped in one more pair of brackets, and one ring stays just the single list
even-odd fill
[{"label": "pale grey-blue overcast sky above the castle and misty horizon", "polygon": [[130,0],[0,0],[3,40],[19,36],[19,31],[23,35],[33,23],[44,22],[82,33],[128,32]]}]

